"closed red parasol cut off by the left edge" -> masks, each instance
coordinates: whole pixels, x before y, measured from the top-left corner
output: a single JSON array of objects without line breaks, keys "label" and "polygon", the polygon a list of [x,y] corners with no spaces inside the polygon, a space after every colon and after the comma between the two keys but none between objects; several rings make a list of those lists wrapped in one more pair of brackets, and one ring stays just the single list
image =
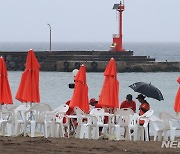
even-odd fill
[{"label": "closed red parasol cut off by the left edge", "polygon": [[0,57],[0,104],[13,104],[6,64]]}]

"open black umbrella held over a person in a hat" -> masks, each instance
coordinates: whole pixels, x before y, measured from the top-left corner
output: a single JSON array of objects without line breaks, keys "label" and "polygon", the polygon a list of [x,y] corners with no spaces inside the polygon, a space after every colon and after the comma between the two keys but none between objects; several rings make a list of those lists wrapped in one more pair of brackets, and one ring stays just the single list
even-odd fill
[{"label": "open black umbrella held over a person in a hat", "polygon": [[161,91],[153,86],[151,83],[136,82],[129,86],[135,92],[139,92],[147,97],[154,98],[157,100],[164,100]]}]

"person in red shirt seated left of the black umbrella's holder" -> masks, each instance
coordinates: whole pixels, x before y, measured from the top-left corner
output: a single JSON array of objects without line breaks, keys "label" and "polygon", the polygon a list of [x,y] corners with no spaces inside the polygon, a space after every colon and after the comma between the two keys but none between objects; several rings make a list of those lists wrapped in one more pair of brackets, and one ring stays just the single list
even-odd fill
[{"label": "person in red shirt seated left of the black umbrella's holder", "polygon": [[121,103],[120,109],[122,108],[130,108],[134,112],[136,112],[136,103],[132,100],[132,95],[128,94],[126,96],[126,100]]}]

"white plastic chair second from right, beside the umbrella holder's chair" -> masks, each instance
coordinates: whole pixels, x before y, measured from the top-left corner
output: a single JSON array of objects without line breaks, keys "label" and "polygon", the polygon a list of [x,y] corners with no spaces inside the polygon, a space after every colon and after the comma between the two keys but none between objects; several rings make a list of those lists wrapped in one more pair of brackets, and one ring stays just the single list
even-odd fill
[{"label": "white plastic chair second from right, beside the umbrella holder's chair", "polygon": [[161,141],[162,134],[164,132],[162,120],[156,117],[155,115],[152,115],[150,117],[150,123],[153,125],[154,128],[154,141]]}]

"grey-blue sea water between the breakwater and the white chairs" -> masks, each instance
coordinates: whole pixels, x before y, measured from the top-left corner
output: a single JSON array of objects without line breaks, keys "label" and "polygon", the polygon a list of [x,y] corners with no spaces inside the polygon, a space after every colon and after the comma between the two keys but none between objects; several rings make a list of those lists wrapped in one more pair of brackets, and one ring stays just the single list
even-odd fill
[{"label": "grey-blue sea water between the breakwater and the white chairs", "polygon": [[[21,103],[15,99],[15,95],[20,83],[22,72],[9,71],[9,83],[12,91],[13,101],[15,105]],[[119,102],[125,100],[127,94],[132,94],[136,101],[136,107],[140,103],[135,99],[138,95],[129,85],[135,82],[147,82],[156,86],[164,96],[163,101],[158,101],[152,98],[146,98],[151,109],[156,115],[160,112],[174,112],[174,99],[178,90],[177,78],[180,76],[178,72],[169,73],[118,73],[119,80]],[[98,100],[102,85],[104,82],[103,73],[87,73],[88,95],[90,98]],[[71,99],[73,89],[69,89],[68,84],[73,83],[73,74],[71,72],[40,72],[40,99],[41,103],[47,103],[52,108],[66,103]]]}]

